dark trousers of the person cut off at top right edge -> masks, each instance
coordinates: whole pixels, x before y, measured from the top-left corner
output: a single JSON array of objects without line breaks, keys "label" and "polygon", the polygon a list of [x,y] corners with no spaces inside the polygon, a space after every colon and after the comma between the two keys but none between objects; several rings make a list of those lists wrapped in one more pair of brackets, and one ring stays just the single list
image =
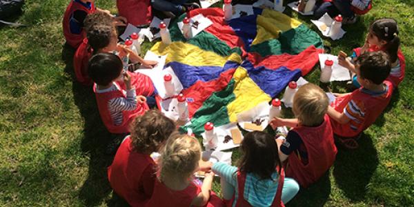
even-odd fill
[{"label": "dark trousers of the person cut off at top right edge", "polygon": [[334,18],[338,14],[344,17],[353,17],[354,12],[351,10],[351,1],[333,0],[332,2],[317,3],[313,11],[313,19],[321,18],[326,12]]}]

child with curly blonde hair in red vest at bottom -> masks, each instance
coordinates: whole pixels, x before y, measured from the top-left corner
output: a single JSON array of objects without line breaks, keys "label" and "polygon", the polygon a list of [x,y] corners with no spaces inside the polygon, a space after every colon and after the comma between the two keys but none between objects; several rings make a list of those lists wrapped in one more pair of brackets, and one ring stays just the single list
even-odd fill
[{"label": "child with curly blonde hair in red vest at bottom", "polygon": [[199,168],[201,146],[188,135],[173,133],[161,150],[158,179],[148,207],[224,206],[213,191],[213,172],[206,172],[199,184],[194,173]]}]

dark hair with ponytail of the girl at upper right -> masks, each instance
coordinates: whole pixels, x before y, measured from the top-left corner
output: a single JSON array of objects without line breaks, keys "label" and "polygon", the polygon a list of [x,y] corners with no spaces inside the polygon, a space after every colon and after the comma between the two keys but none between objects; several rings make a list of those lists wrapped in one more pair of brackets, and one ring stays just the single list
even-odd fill
[{"label": "dark hair with ponytail of the girl at upper right", "polygon": [[386,41],[383,48],[391,63],[397,61],[398,50],[400,50],[397,21],[391,18],[377,19],[371,25],[371,31],[378,39]]}]

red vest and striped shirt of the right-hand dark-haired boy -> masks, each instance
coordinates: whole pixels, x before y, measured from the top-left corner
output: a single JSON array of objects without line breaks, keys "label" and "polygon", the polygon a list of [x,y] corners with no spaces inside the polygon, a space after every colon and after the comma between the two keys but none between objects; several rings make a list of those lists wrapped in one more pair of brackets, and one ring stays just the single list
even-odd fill
[{"label": "red vest and striped shirt of the right-hand dark-haired boy", "polygon": [[351,119],[347,124],[339,124],[331,119],[333,133],[341,137],[355,137],[371,126],[384,111],[391,100],[393,84],[384,81],[385,90],[375,93],[365,88],[359,88],[344,97],[338,97],[331,106],[337,112]]}]

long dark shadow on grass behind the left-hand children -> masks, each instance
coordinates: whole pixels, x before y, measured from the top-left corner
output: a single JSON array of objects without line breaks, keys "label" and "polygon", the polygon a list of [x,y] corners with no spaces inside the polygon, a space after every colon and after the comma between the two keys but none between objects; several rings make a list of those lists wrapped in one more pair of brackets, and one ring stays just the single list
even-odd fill
[{"label": "long dark shadow on grass behind the left-hand children", "polygon": [[75,105],[79,108],[79,112],[84,119],[81,150],[90,157],[88,178],[79,191],[79,198],[86,206],[97,206],[111,192],[106,168],[112,163],[113,156],[104,155],[111,135],[99,116],[92,86],[83,86],[76,81],[72,67],[74,53],[75,50],[70,46],[63,46],[62,59],[66,63],[65,72],[72,77],[72,93]]}]

